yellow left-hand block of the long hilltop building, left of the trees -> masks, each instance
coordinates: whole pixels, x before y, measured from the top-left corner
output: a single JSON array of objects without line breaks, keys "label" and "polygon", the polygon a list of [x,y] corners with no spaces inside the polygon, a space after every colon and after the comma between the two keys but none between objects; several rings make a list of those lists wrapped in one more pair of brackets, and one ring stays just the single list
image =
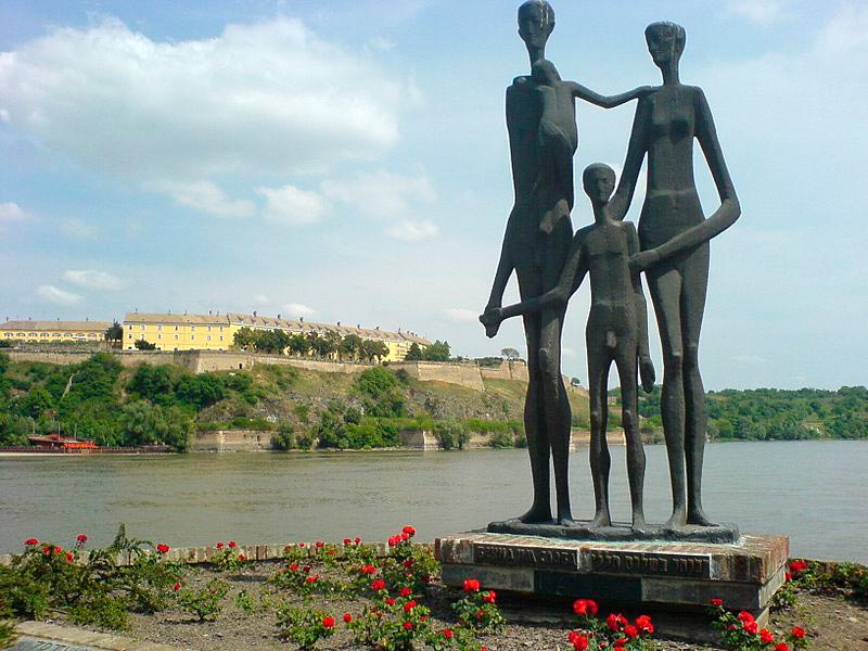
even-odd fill
[{"label": "yellow left-hand block of the long hilltop building, left of the trees", "polygon": [[157,350],[228,350],[232,345],[226,316],[214,315],[128,312],[124,349],[135,350],[137,340],[154,344]]}]

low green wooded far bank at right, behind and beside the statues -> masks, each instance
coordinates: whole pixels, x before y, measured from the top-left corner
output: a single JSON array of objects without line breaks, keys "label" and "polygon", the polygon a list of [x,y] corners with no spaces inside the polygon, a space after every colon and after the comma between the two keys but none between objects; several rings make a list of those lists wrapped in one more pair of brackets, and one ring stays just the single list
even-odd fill
[{"label": "low green wooded far bank at right, behind and beside the statues", "polygon": [[[617,393],[617,392],[616,392]],[[642,429],[662,429],[660,387],[640,394]],[[868,388],[725,390],[706,394],[709,436],[741,441],[868,439]]]}]

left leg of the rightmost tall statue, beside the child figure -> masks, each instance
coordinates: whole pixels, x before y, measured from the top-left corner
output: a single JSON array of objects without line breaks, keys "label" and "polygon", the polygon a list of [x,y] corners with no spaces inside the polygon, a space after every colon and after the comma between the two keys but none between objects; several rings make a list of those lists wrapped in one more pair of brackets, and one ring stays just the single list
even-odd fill
[{"label": "left leg of the rightmost tall statue, beside the child figure", "polygon": [[660,410],[669,460],[673,511],[666,526],[687,522],[685,490],[685,388],[681,344],[681,275],[669,265],[659,265],[648,272],[648,285],[654,303],[658,330],[663,347],[663,390]]}]

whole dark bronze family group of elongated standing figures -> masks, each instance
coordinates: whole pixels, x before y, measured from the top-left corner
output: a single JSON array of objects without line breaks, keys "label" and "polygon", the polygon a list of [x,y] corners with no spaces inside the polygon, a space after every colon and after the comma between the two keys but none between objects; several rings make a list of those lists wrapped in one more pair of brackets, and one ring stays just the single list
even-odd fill
[{"label": "whole dark bronze family group of elongated standing figures", "polygon": [[[646,29],[648,49],[663,84],[614,97],[564,81],[546,60],[554,11],[546,0],[519,9],[519,35],[527,47],[529,76],[507,90],[507,128],[514,205],[492,294],[480,320],[495,336],[503,319],[521,315],[527,341],[529,383],[524,424],[534,500],[519,518],[524,524],[552,522],[550,459],[554,468],[557,523],[570,527],[567,464],[571,413],[561,376],[561,334],[566,303],[588,276],[591,306],[586,328],[590,395],[590,468],[596,512],[585,526],[612,527],[609,508],[611,458],[607,445],[608,381],[614,362],[621,381],[622,421],[627,448],[631,528],[648,531],[642,508],[646,458],[638,426],[638,384],[655,381],[648,348],[648,312],[640,276],[644,273],[663,350],[661,412],[672,481],[673,512],[660,531],[713,527],[702,507],[705,398],[699,372],[699,336],[709,282],[709,241],[740,215],[705,95],[685,86],[678,64],[685,29],[654,23]],[[578,144],[575,99],[602,107],[637,100],[624,171],[596,163],[583,174],[593,224],[575,234],[573,156]],[[705,218],[693,180],[693,141],[705,155],[720,206]],[[642,161],[648,183],[638,228],[624,217]],[[613,194],[614,193],[614,194]],[[501,307],[515,271],[521,303]]]}]

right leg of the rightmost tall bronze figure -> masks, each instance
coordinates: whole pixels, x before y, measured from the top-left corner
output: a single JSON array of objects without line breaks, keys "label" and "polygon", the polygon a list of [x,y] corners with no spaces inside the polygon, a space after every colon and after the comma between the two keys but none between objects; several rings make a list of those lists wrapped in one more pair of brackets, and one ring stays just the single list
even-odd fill
[{"label": "right leg of the rightmost tall bronze figure", "polygon": [[687,522],[713,526],[702,509],[702,464],[707,429],[705,388],[699,372],[699,335],[709,286],[709,245],[690,255],[684,265],[681,321],[685,346],[685,454],[687,456]]}]

